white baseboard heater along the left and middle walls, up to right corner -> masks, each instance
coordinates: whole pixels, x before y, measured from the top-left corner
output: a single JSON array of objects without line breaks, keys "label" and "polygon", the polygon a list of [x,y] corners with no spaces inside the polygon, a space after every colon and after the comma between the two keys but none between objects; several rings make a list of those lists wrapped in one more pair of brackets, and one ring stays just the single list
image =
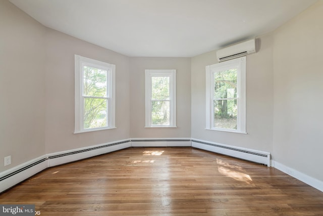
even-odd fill
[{"label": "white baseboard heater along the left and middle walls, up to right corner", "polygon": [[28,179],[38,172],[64,163],[73,162],[129,147],[191,146],[190,139],[133,139],[61,151],[37,157],[11,169],[0,172],[0,193]]}]

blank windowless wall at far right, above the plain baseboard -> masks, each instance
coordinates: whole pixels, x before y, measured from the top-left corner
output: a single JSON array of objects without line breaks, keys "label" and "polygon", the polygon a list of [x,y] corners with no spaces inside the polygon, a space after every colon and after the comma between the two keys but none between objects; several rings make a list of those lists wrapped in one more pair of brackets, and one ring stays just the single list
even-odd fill
[{"label": "blank windowless wall at far right, above the plain baseboard", "polygon": [[323,181],[323,1],[274,32],[273,159]]}]

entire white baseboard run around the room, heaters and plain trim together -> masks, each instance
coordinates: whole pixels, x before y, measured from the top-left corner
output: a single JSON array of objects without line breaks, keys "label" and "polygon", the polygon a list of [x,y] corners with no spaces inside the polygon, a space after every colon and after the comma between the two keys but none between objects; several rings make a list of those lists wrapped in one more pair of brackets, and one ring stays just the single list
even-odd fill
[{"label": "entire white baseboard run around the room, heaters and plain trim together", "polygon": [[[28,179],[38,172],[56,166],[100,154],[109,153],[112,151],[121,150],[129,147],[176,147],[176,146],[192,146],[195,148],[204,149],[211,152],[225,154],[241,159],[246,159],[258,163],[267,164],[270,166],[270,153],[257,151],[252,149],[239,148],[228,146],[208,141],[197,139],[182,138],[182,139],[129,139],[111,143],[105,143],[85,148],[73,149],[56,153],[46,154],[11,169],[0,172],[0,193],[17,185],[18,183]],[[302,172],[292,169],[284,164],[272,161],[272,165],[285,172],[286,174],[320,190],[323,192],[323,182],[312,177],[309,177]]]}]

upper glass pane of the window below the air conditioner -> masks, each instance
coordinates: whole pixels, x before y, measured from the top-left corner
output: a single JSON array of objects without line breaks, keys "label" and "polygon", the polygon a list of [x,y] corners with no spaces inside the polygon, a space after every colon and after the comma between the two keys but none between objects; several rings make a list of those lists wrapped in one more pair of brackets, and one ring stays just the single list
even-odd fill
[{"label": "upper glass pane of the window below the air conditioner", "polygon": [[214,98],[237,97],[237,68],[214,73]]}]

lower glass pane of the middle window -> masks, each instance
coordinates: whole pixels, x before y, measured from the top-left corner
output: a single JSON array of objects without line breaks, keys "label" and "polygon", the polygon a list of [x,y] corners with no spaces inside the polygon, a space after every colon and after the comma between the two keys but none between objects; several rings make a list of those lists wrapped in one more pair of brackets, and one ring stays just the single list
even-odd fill
[{"label": "lower glass pane of the middle window", "polygon": [[170,125],[170,102],[169,101],[151,102],[151,124]]}]

